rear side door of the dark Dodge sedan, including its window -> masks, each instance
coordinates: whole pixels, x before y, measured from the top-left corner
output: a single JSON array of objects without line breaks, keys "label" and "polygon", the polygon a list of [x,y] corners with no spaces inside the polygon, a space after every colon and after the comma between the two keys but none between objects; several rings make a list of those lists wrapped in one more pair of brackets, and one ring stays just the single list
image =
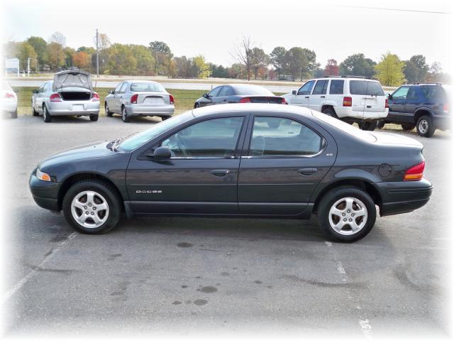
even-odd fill
[{"label": "rear side door of the dark Dodge sedan, including its window", "polygon": [[333,138],[309,119],[251,117],[238,176],[238,207],[250,215],[298,215],[336,160]]}]

